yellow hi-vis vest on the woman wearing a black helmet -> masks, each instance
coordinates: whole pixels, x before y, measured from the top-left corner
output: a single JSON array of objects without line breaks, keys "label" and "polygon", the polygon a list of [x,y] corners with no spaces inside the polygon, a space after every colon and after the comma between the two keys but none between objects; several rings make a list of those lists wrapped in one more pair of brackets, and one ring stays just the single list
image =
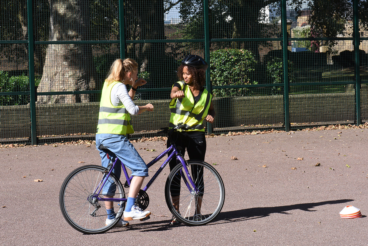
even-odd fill
[{"label": "yellow hi-vis vest on the woman wearing a black helmet", "polygon": [[212,95],[204,89],[199,100],[194,103],[194,96],[190,88],[184,81],[178,81],[178,83],[185,97],[172,99],[169,103],[171,111],[169,128],[183,123],[188,131],[205,131],[203,120],[208,115]]}]

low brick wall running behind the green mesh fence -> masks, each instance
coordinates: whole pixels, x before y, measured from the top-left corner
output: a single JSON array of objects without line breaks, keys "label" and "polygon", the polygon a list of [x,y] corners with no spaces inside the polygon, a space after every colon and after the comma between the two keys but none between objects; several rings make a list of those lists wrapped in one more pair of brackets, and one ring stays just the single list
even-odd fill
[{"label": "low brick wall running behind the green mesh fence", "polygon": [[[368,119],[367,87],[361,89],[362,120]],[[290,95],[290,122],[340,122],[355,119],[354,92]],[[145,105],[149,101],[136,101]],[[131,116],[136,132],[168,126],[169,100],[151,102],[153,112]],[[284,122],[283,96],[244,96],[214,98],[216,118],[213,127],[279,124]],[[31,135],[29,106],[0,106],[0,138]],[[99,103],[36,105],[37,135],[64,135],[96,131]]]}]

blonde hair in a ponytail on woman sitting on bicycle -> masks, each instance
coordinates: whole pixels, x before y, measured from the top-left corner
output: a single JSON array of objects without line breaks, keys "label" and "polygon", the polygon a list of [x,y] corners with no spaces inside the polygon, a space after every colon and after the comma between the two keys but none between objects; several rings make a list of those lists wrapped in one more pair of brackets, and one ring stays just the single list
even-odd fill
[{"label": "blonde hair in a ponytail on woman sitting on bicycle", "polygon": [[133,59],[116,59],[110,67],[110,72],[109,75],[107,75],[106,81],[108,84],[111,84],[113,81],[123,82],[127,73],[137,69],[138,63]]}]

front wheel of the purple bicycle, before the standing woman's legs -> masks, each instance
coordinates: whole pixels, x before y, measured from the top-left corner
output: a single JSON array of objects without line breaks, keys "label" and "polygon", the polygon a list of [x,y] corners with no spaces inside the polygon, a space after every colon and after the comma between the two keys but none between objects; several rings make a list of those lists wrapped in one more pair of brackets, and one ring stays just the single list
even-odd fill
[{"label": "front wheel of the purple bicycle, before the standing woman's legs", "polygon": [[[199,192],[194,191],[183,165],[178,164],[166,180],[166,203],[171,213],[184,224],[205,225],[219,214],[224,205],[224,184],[216,169],[208,163],[198,160],[187,162]],[[172,197],[180,198],[180,213],[174,208]]]}]

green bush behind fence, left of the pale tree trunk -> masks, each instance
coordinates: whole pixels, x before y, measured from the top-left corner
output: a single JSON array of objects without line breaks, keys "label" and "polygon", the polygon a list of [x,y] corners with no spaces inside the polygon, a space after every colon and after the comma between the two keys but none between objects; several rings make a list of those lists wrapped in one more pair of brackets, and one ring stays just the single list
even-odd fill
[{"label": "green bush behind fence, left of the pale tree trunk", "polygon": [[[37,87],[40,78],[35,79]],[[19,75],[9,77],[8,72],[0,71],[0,91],[1,92],[28,92],[29,78],[28,76]],[[0,106],[26,105],[30,101],[29,95],[1,95]]]}]

